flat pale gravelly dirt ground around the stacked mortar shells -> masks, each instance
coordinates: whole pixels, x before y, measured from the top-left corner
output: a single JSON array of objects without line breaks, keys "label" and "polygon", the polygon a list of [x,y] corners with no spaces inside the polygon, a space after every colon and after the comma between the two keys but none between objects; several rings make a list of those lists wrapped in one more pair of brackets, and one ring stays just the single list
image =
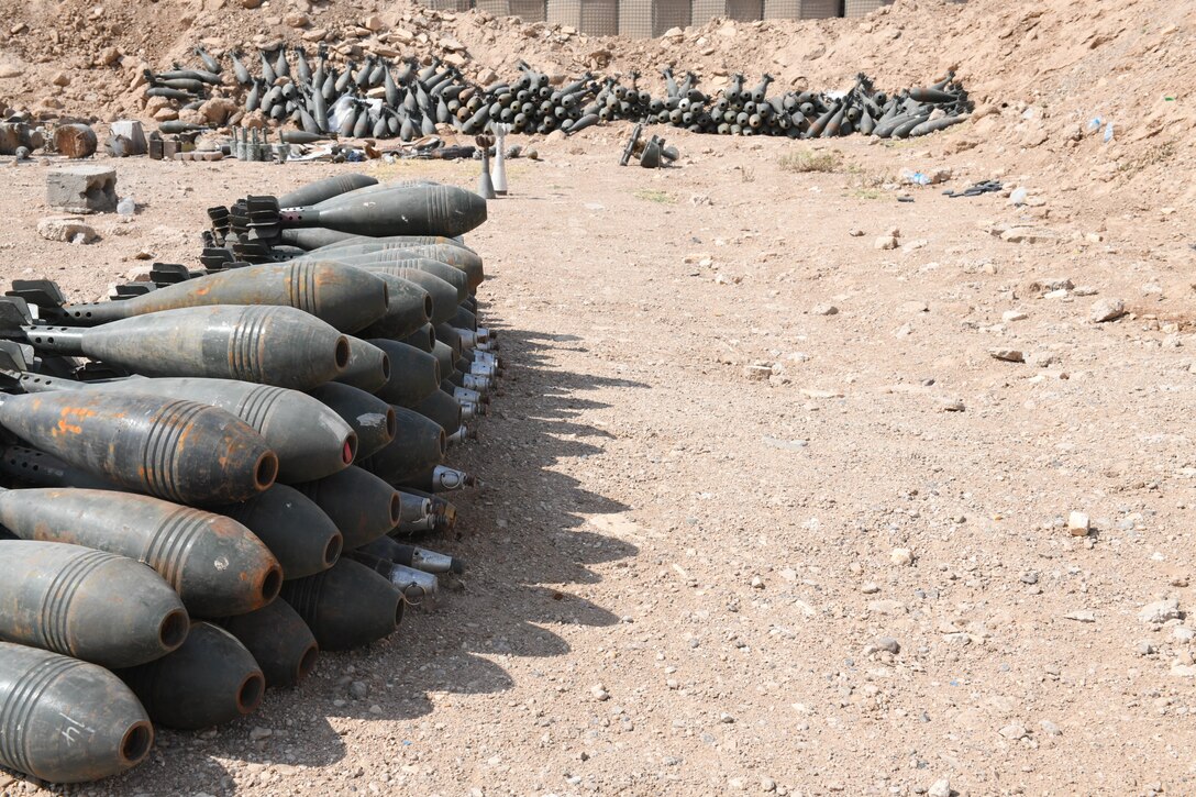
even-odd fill
[{"label": "flat pale gravelly dirt ground around the stacked mortar shells", "polygon": [[[1196,792],[1190,215],[952,134],[666,133],[658,172],[616,165],[624,135],[538,145],[468,236],[509,365],[452,454],[486,482],[462,537],[426,541],[458,589],[79,791]],[[196,263],[207,206],[349,169],[112,163],[141,207],[87,247],[37,237],[47,168],[4,166],[0,276],[93,298],[139,253]],[[941,194],[1002,168],[1030,205]]]}]

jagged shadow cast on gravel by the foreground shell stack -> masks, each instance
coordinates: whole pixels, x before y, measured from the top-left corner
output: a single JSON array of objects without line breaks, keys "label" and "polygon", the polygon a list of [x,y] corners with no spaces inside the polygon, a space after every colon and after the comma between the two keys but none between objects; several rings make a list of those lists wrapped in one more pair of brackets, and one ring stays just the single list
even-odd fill
[{"label": "jagged shadow cast on gravel by the foreground shell stack", "polygon": [[[323,655],[299,688],[271,690],[262,708],[239,723],[201,734],[160,732],[146,766],[105,786],[117,793],[232,795],[246,785],[248,768],[255,787],[268,787],[270,767],[352,759],[353,735],[364,728],[353,720],[393,720],[382,731],[392,740],[389,747],[417,749],[420,731],[409,720],[432,713],[434,701],[509,689],[506,657],[567,653],[568,643],[545,626],[618,622],[576,592],[600,580],[593,565],[637,553],[582,529],[586,516],[628,507],[556,466],[602,455],[612,439],[585,422],[587,412],[608,407],[587,394],[646,385],[557,369],[559,352],[584,351],[576,337],[499,329],[507,365],[501,394],[477,424],[481,439],[450,452],[453,467],[475,473],[484,486],[451,497],[459,513],[456,539],[420,541],[469,564],[440,608],[409,609],[397,634],[367,649]],[[254,741],[255,728],[270,735]]]}]

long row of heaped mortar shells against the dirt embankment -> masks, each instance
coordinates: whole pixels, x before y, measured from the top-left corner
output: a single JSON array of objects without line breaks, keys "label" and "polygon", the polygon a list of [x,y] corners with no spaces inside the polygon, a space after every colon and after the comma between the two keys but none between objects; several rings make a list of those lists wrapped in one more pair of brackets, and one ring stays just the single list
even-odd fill
[{"label": "long row of heaped mortar shells against the dirt embankment", "polygon": [[[974,109],[968,92],[948,73],[926,87],[893,95],[878,91],[860,74],[847,91],[789,91],[769,97],[773,78],[755,86],[734,75],[716,93],[698,87],[694,73],[681,80],[663,71],[665,95],[654,97],[639,86],[637,73],[596,78],[591,73],[554,87],[549,77],[520,63],[520,74],[489,86],[470,83],[453,66],[432,59],[421,67],[415,59],[396,69],[389,60],[368,56],[340,68],[322,48],[315,66],[301,48],[260,53],[257,75],[236,53],[232,75],[219,60],[196,50],[203,66],[146,73],[148,97],[164,97],[178,109],[197,110],[213,89],[234,93],[239,110],[233,126],[257,126],[271,120],[283,130],[285,144],[313,144],[332,136],[398,138],[411,141],[451,126],[476,135],[492,123],[509,124],[512,133],[575,133],[602,121],[624,120],[669,124],[692,133],[721,135],[780,135],[834,138],[860,133],[880,138],[925,135],[957,124]],[[255,116],[256,115],[256,122]],[[207,129],[187,122],[165,122],[164,133]]]}]

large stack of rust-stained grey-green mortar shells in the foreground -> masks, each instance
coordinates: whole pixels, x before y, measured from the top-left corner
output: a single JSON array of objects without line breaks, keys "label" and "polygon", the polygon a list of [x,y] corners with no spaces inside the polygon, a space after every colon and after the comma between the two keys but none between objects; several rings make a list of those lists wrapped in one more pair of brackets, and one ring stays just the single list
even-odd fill
[{"label": "large stack of rust-stained grey-green mortar shells in the foreground", "polygon": [[0,766],[128,769],[463,571],[413,536],[453,528],[446,452],[501,371],[460,238],[486,202],[376,183],[213,208],[205,270],[112,300],[0,299]]}]

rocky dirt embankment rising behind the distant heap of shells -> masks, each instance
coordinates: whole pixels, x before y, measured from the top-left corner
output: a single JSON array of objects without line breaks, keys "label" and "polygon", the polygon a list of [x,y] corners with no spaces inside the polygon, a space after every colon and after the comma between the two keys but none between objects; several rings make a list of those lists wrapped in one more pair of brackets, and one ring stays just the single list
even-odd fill
[{"label": "rocky dirt embankment rising behind the distant heap of shells", "polygon": [[[437,56],[486,84],[517,74],[523,59],[557,80],[640,72],[655,91],[666,65],[692,69],[707,90],[736,72],[749,80],[769,72],[779,92],[848,89],[859,72],[897,90],[956,69],[980,105],[969,145],[984,157],[1015,157],[1019,169],[1086,194],[1128,188],[1130,202],[1143,193],[1177,207],[1196,200],[1186,178],[1196,128],[1191,4],[897,0],[861,19],[715,19],[637,41],[407,0],[0,0],[0,105],[44,118],[148,118],[161,101],[147,107],[142,72],[197,66],[196,44],[250,59],[282,43],[327,45],[334,62]],[[1109,123],[1107,147],[1085,145],[1094,124]]]}]

